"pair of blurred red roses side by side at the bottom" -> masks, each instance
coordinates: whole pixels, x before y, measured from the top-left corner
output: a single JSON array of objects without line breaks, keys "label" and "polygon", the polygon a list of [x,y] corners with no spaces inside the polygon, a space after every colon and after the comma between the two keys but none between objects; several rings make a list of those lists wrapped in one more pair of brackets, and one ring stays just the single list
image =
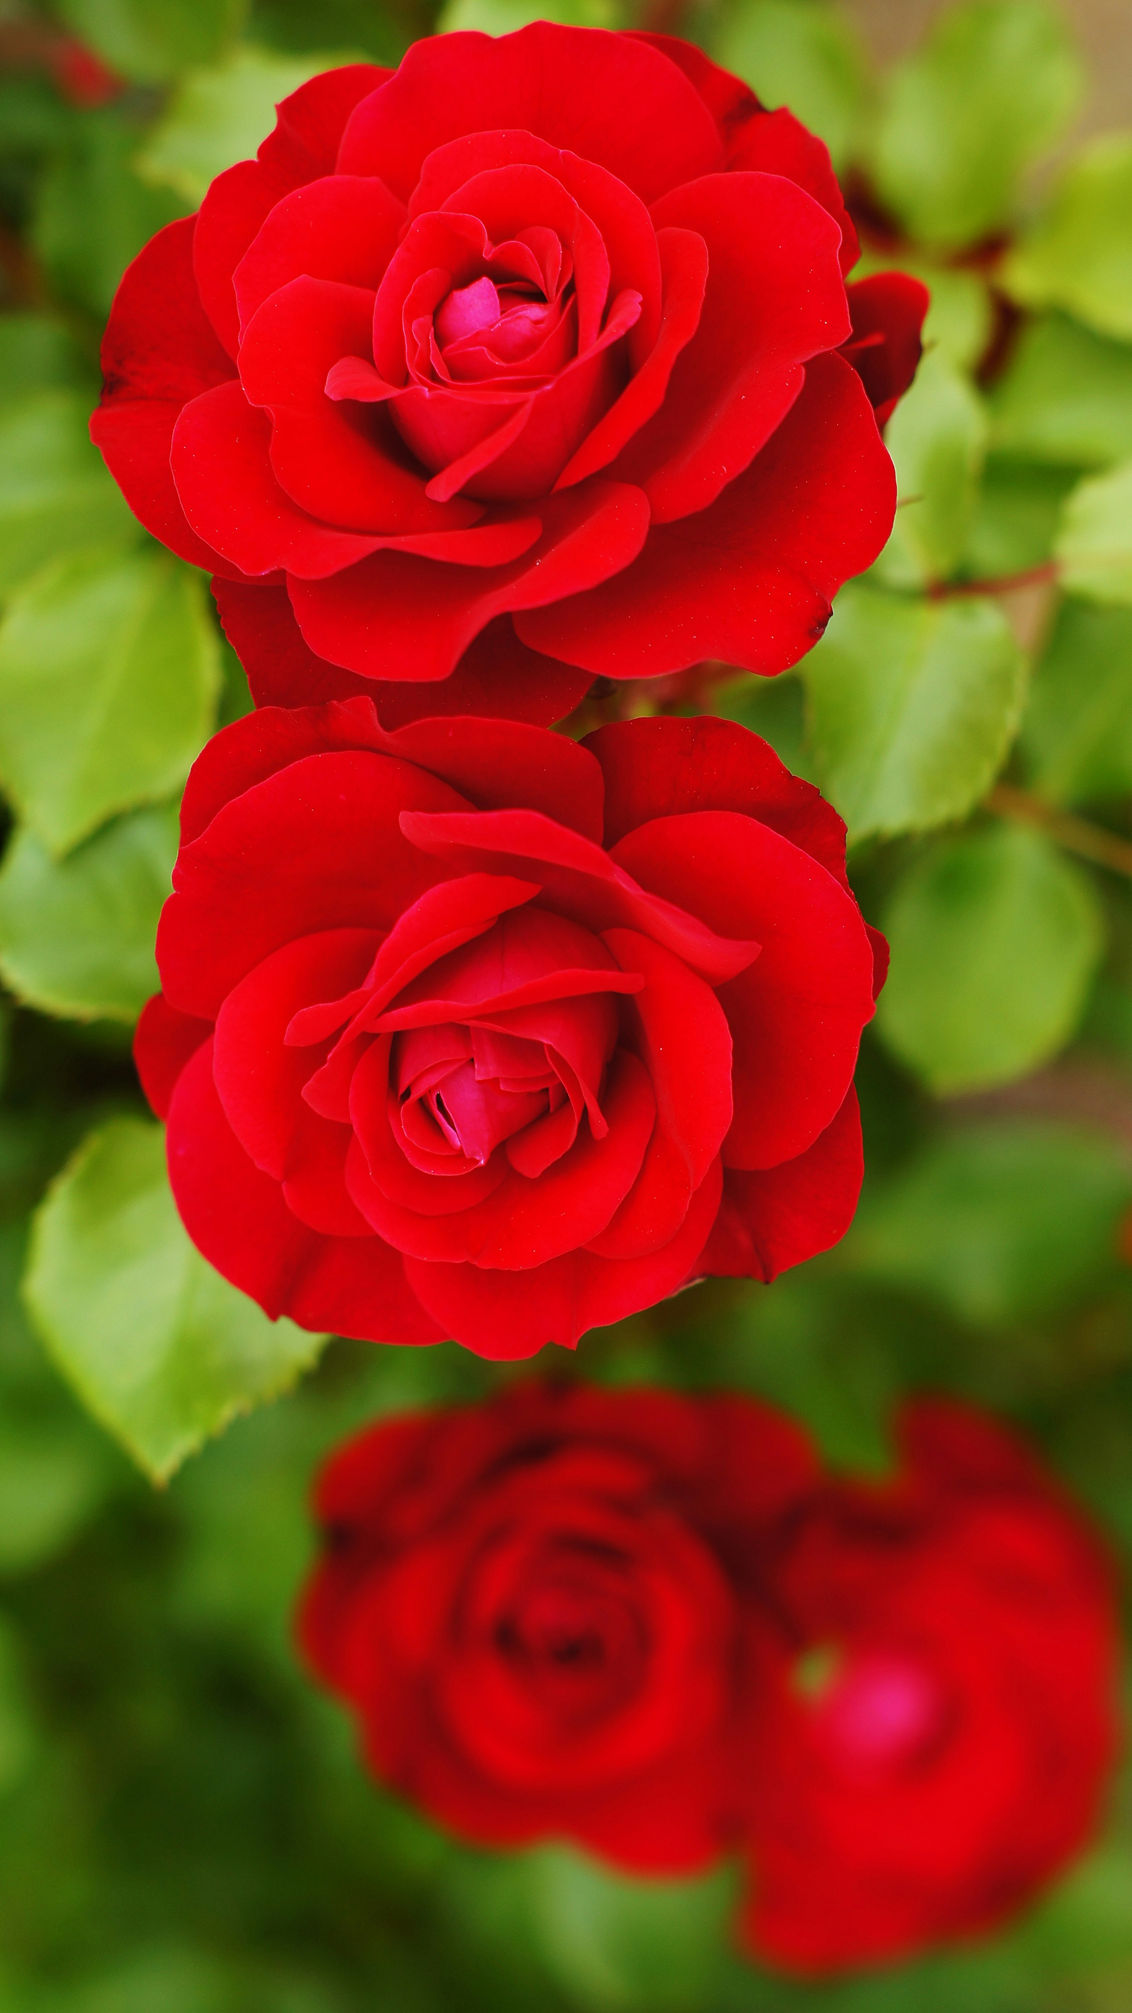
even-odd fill
[{"label": "pair of blurred red roses side by side at the bottom", "polygon": [[459,1838],[737,1852],[769,1965],[987,1930],[1094,1828],[1114,1588],[1001,1427],[918,1401],[898,1445],[830,1478],[749,1399],[554,1385],[375,1425],[318,1482],[306,1659]]}]

